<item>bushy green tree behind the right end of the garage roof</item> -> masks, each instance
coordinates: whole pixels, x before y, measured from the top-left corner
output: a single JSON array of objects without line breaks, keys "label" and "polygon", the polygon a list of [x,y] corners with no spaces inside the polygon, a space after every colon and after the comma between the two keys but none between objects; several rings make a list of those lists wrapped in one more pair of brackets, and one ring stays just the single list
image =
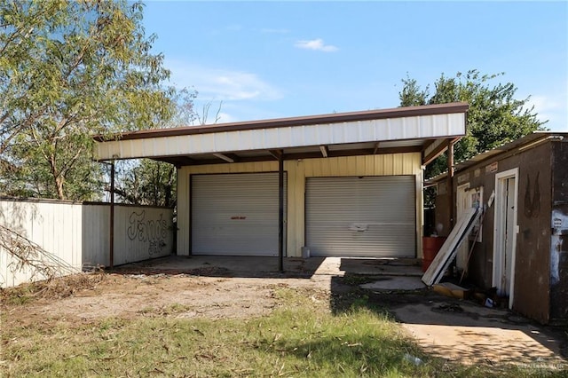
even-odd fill
[{"label": "bushy green tree behind the right end of the garage roof", "polygon": [[[503,143],[521,138],[534,130],[541,130],[534,107],[528,100],[516,99],[517,87],[513,83],[494,83],[504,73],[482,75],[470,70],[455,77],[441,75],[434,83],[435,91],[430,96],[430,85],[424,90],[416,80],[406,77],[402,91],[398,93],[400,106],[420,106],[463,101],[469,103],[467,135],[454,146],[455,161],[493,149]],[[434,177],[447,169],[447,157],[441,155],[426,168],[426,177]]]}]

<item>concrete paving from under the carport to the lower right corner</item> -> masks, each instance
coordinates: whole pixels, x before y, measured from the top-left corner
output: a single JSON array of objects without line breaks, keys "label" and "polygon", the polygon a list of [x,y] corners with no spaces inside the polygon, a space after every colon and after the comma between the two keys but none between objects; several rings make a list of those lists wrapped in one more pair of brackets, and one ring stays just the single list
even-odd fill
[{"label": "concrete paving from under the carport to the lower right corner", "polygon": [[[438,295],[420,280],[414,259],[169,256],[119,266],[124,274],[327,280],[330,309],[366,306],[401,323],[423,350],[468,364],[566,367],[568,330],[540,326],[506,309]],[[366,287],[366,288],[364,288]]]}]

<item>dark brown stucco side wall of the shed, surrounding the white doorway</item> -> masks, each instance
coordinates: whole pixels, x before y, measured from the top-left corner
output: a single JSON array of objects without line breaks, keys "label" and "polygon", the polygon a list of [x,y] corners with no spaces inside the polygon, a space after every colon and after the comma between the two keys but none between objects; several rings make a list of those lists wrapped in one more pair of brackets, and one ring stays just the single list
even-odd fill
[{"label": "dark brown stucco side wall of the shed, surrounding the white doorway", "polygon": [[[484,204],[495,190],[497,174],[518,169],[516,255],[513,309],[540,322],[548,322],[550,278],[551,144],[481,161],[456,172],[457,185],[482,186]],[[446,201],[446,199],[440,199]],[[482,241],[469,260],[469,280],[477,287],[496,286],[493,281],[495,203],[486,209]]]}]

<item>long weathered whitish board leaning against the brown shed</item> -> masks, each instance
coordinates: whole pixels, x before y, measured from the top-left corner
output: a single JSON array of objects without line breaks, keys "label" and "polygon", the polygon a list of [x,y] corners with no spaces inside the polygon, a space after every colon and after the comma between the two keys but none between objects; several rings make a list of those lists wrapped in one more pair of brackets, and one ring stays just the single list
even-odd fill
[{"label": "long weathered whitish board leaning against the brown shed", "polygon": [[430,264],[430,267],[422,276],[422,282],[432,286],[442,279],[447,267],[454,260],[461,243],[468,239],[469,232],[473,229],[474,224],[477,224],[480,216],[480,209],[471,208],[463,212],[461,218],[458,219],[458,223],[455,224],[454,229],[447,237],[446,242],[440,248],[438,255],[434,257],[432,264]]}]

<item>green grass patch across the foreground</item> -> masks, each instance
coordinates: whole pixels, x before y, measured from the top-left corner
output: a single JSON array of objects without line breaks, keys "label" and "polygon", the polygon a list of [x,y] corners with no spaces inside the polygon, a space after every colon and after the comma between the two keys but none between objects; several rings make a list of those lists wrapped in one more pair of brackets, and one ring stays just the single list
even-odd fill
[{"label": "green grass patch across the foreground", "polygon": [[[275,287],[274,295],[279,308],[255,319],[51,319],[6,327],[0,375],[552,376],[430,358],[364,297],[334,314],[317,295],[288,287]],[[186,310],[179,303],[169,309]],[[406,355],[422,363],[415,365]]]}]

